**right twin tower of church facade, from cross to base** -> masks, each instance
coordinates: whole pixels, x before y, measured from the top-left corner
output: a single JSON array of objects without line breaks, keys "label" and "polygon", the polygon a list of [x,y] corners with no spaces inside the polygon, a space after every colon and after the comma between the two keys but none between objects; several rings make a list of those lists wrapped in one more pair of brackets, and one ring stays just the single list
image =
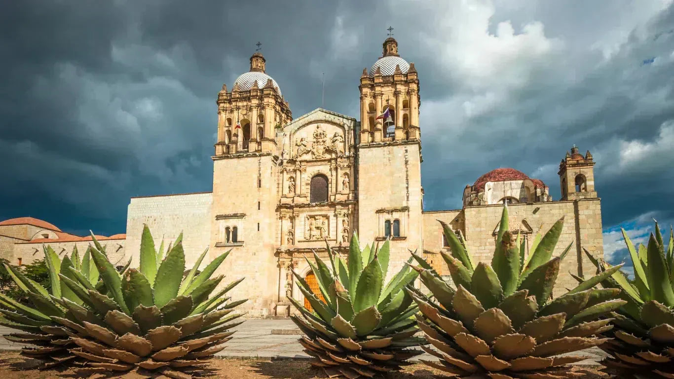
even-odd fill
[{"label": "right twin tower of church facade, from cross to base", "polygon": [[[361,241],[391,240],[389,272],[423,251],[419,78],[389,28],[382,55],[360,78],[358,225]],[[375,242],[376,243],[376,242]]]}]

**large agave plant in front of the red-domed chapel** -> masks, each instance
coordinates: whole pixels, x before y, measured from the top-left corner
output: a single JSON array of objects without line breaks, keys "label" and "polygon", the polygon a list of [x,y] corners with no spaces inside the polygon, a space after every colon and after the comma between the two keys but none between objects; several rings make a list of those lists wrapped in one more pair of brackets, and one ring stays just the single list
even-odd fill
[{"label": "large agave plant in front of the red-domed chapel", "polygon": [[625,301],[618,289],[593,289],[618,268],[583,281],[551,300],[559,264],[572,244],[553,258],[563,219],[524,257],[524,242],[508,231],[503,208],[491,266],[475,265],[466,247],[442,223],[451,254],[441,252],[454,285],[415,256],[421,281],[434,299],[408,288],[419,305],[419,327],[435,347],[422,347],[440,363],[424,361],[452,376],[471,378],[568,378],[563,365],[585,359],[559,356],[605,343],[597,337],[611,328],[602,316]]}]

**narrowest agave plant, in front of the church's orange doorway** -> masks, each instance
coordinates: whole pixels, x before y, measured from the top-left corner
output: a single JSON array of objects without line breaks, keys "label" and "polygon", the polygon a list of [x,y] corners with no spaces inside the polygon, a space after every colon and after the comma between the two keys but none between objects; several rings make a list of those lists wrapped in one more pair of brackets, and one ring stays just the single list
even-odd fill
[{"label": "narrowest agave plant, in front of the church's orange doorway", "polygon": [[[417,272],[404,266],[384,285],[390,246],[366,246],[358,236],[350,241],[347,263],[330,252],[331,268],[314,252],[315,264],[307,262],[316,276],[320,294],[293,271],[297,285],[311,304],[307,310],[288,297],[301,316],[290,316],[306,334],[299,342],[313,357],[311,364],[323,368],[330,378],[372,377],[377,372],[400,370],[405,359],[423,353],[405,349],[423,343],[412,337],[417,331],[412,316],[418,311],[404,287],[417,279]],[[411,262],[411,261],[410,261]]]}]

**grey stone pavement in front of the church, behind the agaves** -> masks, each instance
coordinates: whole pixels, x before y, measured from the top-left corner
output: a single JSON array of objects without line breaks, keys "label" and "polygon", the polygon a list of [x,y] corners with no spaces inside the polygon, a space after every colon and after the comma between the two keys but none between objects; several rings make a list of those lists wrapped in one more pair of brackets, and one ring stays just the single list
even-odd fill
[{"label": "grey stone pavement in front of the church, behind the agaves", "polygon": [[[247,320],[235,328],[237,332],[233,338],[226,344],[226,349],[218,353],[222,357],[266,357],[266,358],[309,358],[309,355],[302,351],[302,345],[297,342],[299,333],[297,326],[291,320]],[[7,334],[10,329],[0,326],[0,334]],[[12,343],[6,339],[0,339],[0,350],[16,350],[21,345]],[[586,349],[580,354],[586,355],[590,359],[578,362],[578,365],[594,366],[599,363],[605,353],[599,349]],[[437,360],[437,358],[424,353],[412,360],[427,359]]]}]

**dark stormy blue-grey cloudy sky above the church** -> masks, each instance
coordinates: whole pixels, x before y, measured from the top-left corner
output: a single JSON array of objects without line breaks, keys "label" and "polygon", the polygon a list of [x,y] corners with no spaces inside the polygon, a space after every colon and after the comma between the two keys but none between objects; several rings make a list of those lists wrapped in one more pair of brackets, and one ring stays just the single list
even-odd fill
[{"label": "dark stormy blue-grey cloudy sky above the church", "polygon": [[262,42],[299,117],[359,117],[388,26],[421,82],[425,209],[497,167],[590,150],[605,254],[674,222],[672,0],[48,1],[0,5],[0,219],[124,233],[131,196],[212,189],[216,96]]}]

